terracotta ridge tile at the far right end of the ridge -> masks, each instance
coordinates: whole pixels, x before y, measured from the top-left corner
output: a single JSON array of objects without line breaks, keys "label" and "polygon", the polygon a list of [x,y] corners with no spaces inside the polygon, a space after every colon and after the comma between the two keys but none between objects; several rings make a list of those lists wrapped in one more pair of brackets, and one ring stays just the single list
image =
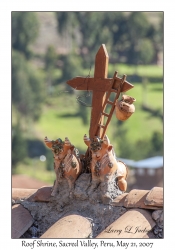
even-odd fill
[{"label": "terracotta ridge tile at the far right end of the ridge", "polygon": [[163,188],[154,187],[147,194],[145,205],[163,207]]}]

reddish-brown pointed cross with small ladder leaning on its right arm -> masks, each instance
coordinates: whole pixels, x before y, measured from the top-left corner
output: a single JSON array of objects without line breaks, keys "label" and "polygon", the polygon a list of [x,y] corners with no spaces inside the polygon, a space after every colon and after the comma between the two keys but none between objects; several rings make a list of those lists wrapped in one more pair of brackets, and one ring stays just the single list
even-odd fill
[{"label": "reddish-brown pointed cross with small ladder leaning on its right arm", "polygon": [[[106,46],[102,44],[95,58],[94,77],[75,77],[67,81],[67,84],[76,90],[93,91],[89,138],[99,136],[103,139],[104,132],[110,122],[120,92],[126,92],[134,87],[131,83],[126,81],[125,75],[123,78],[117,77],[117,72],[115,72],[113,78],[107,78],[108,61],[109,56]],[[111,92],[117,93],[115,102],[111,102],[108,99]],[[107,103],[112,105],[110,114],[104,112]],[[102,125],[104,116],[108,117],[106,125]]]}]

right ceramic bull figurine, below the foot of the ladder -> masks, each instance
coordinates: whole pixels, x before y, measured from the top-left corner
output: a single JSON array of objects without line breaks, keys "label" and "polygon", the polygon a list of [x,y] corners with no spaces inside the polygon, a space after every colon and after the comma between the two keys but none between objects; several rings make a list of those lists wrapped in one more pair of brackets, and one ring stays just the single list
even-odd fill
[{"label": "right ceramic bull figurine, below the foot of the ladder", "polygon": [[90,164],[92,184],[88,194],[90,195],[100,182],[110,181],[116,171],[118,187],[121,191],[126,191],[127,166],[123,162],[117,161],[113,146],[110,144],[107,135],[104,136],[104,140],[97,136],[90,140],[84,135],[84,142],[90,148],[92,154]]}]

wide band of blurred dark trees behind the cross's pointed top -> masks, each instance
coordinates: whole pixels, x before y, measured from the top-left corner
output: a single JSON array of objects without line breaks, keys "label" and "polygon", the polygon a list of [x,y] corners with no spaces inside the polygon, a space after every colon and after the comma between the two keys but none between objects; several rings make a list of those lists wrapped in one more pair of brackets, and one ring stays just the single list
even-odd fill
[{"label": "wide band of blurred dark trees behind the cross's pointed top", "polygon": [[56,17],[59,33],[84,67],[94,62],[99,44],[106,44],[112,62],[130,64],[152,63],[162,50],[162,27],[154,27],[146,12],[56,12]]}]

